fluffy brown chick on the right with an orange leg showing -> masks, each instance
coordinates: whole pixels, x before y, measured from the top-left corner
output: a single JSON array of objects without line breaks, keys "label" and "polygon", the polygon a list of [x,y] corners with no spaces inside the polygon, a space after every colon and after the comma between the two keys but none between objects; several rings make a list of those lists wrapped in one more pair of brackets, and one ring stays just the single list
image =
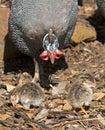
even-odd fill
[{"label": "fluffy brown chick on the right with an orange leg showing", "polygon": [[89,106],[93,94],[92,87],[95,87],[95,81],[91,75],[80,74],[77,76],[77,81],[70,87],[67,95],[67,100],[73,108],[81,108],[87,114],[82,106]]}]

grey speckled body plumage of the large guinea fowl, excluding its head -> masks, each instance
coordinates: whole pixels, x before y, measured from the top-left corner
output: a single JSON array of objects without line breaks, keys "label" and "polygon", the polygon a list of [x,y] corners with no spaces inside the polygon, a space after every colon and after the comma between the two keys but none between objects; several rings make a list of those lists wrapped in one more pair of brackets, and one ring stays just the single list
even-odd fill
[{"label": "grey speckled body plumage of the large guinea fowl, excluding its head", "polygon": [[12,0],[9,33],[23,53],[35,56],[50,28],[63,46],[68,31],[68,39],[73,33],[76,19],[77,0]]}]

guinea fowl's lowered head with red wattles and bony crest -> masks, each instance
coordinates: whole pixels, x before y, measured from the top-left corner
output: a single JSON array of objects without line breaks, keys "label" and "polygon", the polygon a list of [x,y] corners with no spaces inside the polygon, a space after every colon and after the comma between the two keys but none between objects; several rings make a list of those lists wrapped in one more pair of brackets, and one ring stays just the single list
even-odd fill
[{"label": "guinea fowl's lowered head with red wattles and bony crest", "polygon": [[58,49],[58,38],[53,33],[52,29],[49,29],[49,33],[47,33],[43,38],[43,48],[44,51],[40,54],[41,59],[44,61],[50,59],[52,64],[54,64],[55,59],[60,59],[63,55],[63,52]]}]

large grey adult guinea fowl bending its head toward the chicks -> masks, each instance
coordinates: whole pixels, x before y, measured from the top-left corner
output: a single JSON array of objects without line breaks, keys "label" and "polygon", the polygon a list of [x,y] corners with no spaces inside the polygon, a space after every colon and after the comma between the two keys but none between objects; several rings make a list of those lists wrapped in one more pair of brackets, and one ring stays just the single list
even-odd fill
[{"label": "large grey adult guinea fowl bending its head toward the chicks", "polygon": [[71,38],[77,20],[77,0],[11,0],[9,37],[17,48],[31,56],[35,63],[33,81],[43,74],[40,61],[55,59],[62,55],[62,47]]}]

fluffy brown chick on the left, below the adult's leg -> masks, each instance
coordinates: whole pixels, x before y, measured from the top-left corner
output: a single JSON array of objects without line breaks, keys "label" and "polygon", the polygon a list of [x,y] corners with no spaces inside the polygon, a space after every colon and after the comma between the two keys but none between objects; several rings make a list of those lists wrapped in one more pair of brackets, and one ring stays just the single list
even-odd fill
[{"label": "fluffy brown chick on the left, below the adult's leg", "polygon": [[34,83],[26,83],[22,87],[17,87],[10,94],[10,101],[13,105],[21,103],[29,109],[31,105],[40,106],[43,104],[45,95],[39,86]]}]

